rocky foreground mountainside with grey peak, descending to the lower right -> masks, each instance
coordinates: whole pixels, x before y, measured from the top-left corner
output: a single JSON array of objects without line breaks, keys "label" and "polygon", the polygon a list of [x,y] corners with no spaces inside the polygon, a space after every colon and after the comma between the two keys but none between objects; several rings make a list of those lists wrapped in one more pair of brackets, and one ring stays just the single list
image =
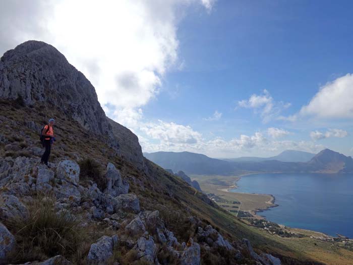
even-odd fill
[{"label": "rocky foreground mountainside with grey peak, descending to the lower right", "polygon": [[[49,117],[56,142],[47,168],[38,134]],[[0,124],[1,264],[353,258],[332,242],[249,226],[147,160],[136,135],[105,117],[90,82],[46,43],[25,42],[0,59]]]}]

